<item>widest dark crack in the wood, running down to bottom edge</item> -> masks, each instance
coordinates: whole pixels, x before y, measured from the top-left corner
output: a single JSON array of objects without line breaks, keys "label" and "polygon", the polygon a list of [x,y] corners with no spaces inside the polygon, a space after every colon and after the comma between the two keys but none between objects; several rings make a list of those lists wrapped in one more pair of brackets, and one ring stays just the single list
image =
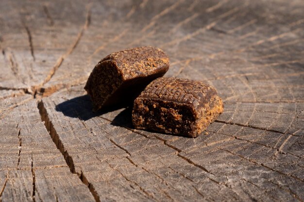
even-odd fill
[{"label": "widest dark crack in the wood, running down to bottom edge", "polygon": [[92,196],[94,197],[96,202],[101,202],[100,197],[95,190],[95,187],[87,181],[87,178],[85,177],[83,171],[81,171],[81,173],[76,172],[73,158],[68,154],[68,150],[66,150],[64,148],[64,145],[63,145],[62,141],[60,140],[59,135],[57,134],[57,131],[54,128],[54,125],[50,121],[50,118],[48,116],[47,109],[45,108],[44,103],[42,101],[40,101],[38,103],[37,107],[39,109],[41,121],[44,122],[44,125],[45,125],[47,131],[49,132],[51,139],[55,143],[57,149],[64,156],[64,159],[66,160],[66,163],[67,163],[71,173],[78,175],[81,182],[88,187],[90,193],[92,194]]}]

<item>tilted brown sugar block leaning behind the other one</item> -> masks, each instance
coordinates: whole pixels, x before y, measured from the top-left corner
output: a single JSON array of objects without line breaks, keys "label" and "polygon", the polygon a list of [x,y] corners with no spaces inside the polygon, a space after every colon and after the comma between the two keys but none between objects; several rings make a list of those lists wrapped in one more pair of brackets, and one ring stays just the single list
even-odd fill
[{"label": "tilted brown sugar block leaning behind the other one", "polygon": [[169,69],[169,58],[156,47],[135,47],[106,56],[94,67],[84,89],[93,109],[133,102],[155,78]]}]

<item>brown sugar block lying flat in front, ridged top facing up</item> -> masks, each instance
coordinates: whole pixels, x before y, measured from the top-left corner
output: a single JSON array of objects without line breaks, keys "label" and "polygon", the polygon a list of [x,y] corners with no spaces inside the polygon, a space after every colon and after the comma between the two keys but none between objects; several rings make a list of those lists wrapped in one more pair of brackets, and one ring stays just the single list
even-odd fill
[{"label": "brown sugar block lying flat in front, ridged top facing up", "polygon": [[135,99],[137,129],[197,137],[223,111],[217,91],[199,81],[157,78]]}]

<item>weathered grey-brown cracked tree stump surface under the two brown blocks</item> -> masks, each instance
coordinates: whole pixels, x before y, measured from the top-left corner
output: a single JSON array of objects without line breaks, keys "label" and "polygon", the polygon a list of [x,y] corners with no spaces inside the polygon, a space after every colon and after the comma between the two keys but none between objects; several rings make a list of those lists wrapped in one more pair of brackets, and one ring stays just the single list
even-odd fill
[{"label": "weathered grey-brown cracked tree stump surface under the two brown blocks", "polygon": [[[304,202],[303,0],[0,1],[0,201]],[[225,111],[191,139],[92,113],[107,54],[161,47]]]}]

